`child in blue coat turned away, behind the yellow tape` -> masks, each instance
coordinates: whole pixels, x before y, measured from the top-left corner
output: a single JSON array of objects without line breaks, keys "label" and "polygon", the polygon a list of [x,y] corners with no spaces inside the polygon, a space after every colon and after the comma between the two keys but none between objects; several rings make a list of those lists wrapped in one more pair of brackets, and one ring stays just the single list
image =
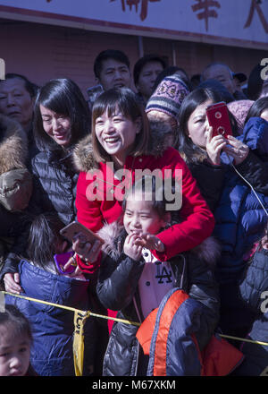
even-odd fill
[{"label": "child in blue coat turned away, behind the yellow tape", "polygon": [[[70,247],[60,235],[63,227],[63,222],[54,213],[47,212],[33,219],[29,231],[29,259],[21,260],[18,266],[23,289],[21,295],[82,311],[92,310],[93,295],[89,293],[88,278],[75,271],[61,274],[54,262],[54,254],[66,253]],[[15,304],[31,323],[30,362],[38,375],[74,376],[73,312],[13,295],[6,295],[5,300],[7,304]],[[105,351],[106,328],[103,329],[96,320],[88,319],[84,341],[83,375],[98,374]]]}]

